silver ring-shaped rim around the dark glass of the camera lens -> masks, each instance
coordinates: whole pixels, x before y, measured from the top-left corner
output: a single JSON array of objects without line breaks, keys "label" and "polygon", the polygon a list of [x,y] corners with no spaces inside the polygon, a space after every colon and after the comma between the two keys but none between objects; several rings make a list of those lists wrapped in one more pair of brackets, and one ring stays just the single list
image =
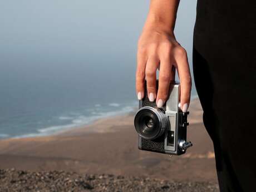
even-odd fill
[{"label": "silver ring-shaped rim around the dark glass of the camera lens", "polygon": [[160,137],[161,135],[163,135],[163,133],[165,132],[166,128],[167,128],[168,125],[169,125],[168,116],[166,116],[163,111],[161,111],[160,109],[158,109],[158,108],[156,108],[156,107],[145,106],[145,107],[141,107],[141,108],[139,109],[139,111],[137,111],[134,120],[136,120],[137,114],[139,114],[139,112],[142,111],[142,110],[150,110],[150,111],[154,112],[154,114],[156,114],[157,119],[158,119],[158,121],[159,121],[160,131],[159,131],[159,133],[158,133],[157,135],[152,136],[152,137],[142,135],[142,134],[140,134],[140,132],[137,130],[138,127],[136,127],[136,122],[134,121],[134,126],[135,126],[135,129],[136,129],[137,133],[139,134],[139,136],[143,137],[144,139],[150,139],[150,140],[152,140],[152,139],[156,139],[157,137]]}]

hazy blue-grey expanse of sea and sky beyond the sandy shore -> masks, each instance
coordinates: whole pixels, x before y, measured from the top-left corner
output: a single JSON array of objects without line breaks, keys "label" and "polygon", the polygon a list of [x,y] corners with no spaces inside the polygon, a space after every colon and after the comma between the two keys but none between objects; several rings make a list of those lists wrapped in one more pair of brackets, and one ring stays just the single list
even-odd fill
[{"label": "hazy blue-grey expanse of sea and sky beyond the sandy shore", "polygon": [[[191,63],[196,2],[180,4],[176,38]],[[51,135],[134,110],[137,39],[148,6],[1,2],[0,139]]]}]

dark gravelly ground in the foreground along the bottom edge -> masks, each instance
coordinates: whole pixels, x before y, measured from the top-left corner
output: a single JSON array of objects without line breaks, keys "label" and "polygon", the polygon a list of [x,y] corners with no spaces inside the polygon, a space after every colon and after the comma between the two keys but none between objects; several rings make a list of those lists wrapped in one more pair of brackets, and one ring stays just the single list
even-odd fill
[{"label": "dark gravelly ground in the foreground along the bottom edge", "polygon": [[0,191],[219,191],[216,183],[175,182],[116,175],[88,175],[65,171],[0,170]]}]

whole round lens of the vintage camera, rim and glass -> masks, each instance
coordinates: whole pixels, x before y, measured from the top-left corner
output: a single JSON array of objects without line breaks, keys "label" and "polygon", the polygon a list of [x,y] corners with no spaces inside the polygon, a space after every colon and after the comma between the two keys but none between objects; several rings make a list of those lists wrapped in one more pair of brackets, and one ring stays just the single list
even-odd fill
[{"label": "whole round lens of the vintage camera, rim and glass", "polygon": [[153,107],[142,107],[134,119],[136,131],[145,139],[156,139],[161,136],[168,122],[168,117]]}]

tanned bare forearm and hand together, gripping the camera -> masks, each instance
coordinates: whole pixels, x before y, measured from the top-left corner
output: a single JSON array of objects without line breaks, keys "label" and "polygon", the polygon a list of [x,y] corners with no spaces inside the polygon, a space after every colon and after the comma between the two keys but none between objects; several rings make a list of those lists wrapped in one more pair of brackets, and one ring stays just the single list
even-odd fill
[{"label": "tanned bare forearm and hand together, gripping the camera", "polygon": [[[175,79],[175,68],[180,80],[180,108],[188,110],[191,76],[186,51],[176,41],[174,26],[179,0],[151,0],[150,10],[138,41],[136,91],[138,99],[147,95],[157,107],[168,99],[170,82]],[[156,70],[159,68],[159,89],[156,92]]]}]

